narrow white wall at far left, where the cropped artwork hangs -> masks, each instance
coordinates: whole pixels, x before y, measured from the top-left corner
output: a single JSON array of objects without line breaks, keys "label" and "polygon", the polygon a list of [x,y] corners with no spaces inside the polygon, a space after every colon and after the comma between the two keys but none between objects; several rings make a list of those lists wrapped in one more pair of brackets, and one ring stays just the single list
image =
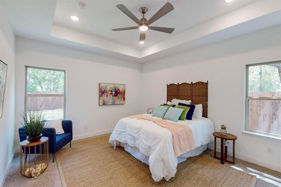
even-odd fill
[{"label": "narrow white wall at far left, where the cropped artwork hangs", "polygon": [[0,186],[13,156],[15,117],[15,35],[0,2],[0,60],[8,65],[3,113],[0,118]]}]

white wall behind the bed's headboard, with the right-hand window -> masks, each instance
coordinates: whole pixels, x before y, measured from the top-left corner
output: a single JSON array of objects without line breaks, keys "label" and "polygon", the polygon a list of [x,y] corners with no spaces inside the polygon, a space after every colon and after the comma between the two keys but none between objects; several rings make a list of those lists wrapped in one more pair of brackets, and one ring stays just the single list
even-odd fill
[{"label": "white wall behind the bed's headboard, with the right-hand window", "polygon": [[[227,131],[238,137],[235,144],[238,158],[281,170],[280,141],[241,133],[245,65],[278,59],[281,59],[280,26],[147,62],[142,66],[142,113],[148,107],[166,102],[167,84],[208,80],[208,118],[214,122],[215,131],[225,124]],[[213,148],[213,142],[209,147]],[[267,147],[274,149],[274,155],[267,153]]]}]

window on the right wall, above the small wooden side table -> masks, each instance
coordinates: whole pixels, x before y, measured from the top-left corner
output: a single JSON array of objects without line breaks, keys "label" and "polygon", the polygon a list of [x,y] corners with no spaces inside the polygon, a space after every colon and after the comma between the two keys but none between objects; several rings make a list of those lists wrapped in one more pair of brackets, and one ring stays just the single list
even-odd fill
[{"label": "window on the right wall, above the small wooden side table", "polygon": [[281,61],[246,66],[245,130],[281,137]]}]

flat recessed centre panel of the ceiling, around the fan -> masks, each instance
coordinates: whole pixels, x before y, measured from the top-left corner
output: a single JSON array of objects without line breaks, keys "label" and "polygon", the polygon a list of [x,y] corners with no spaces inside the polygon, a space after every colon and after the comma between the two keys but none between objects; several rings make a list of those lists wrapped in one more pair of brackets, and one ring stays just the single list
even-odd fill
[{"label": "flat recessed centre panel of the ceiling, around the fan", "polygon": [[[146,31],[145,44],[138,43],[140,31],[112,31],[114,28],[137,26],[133,20],[127,17],[117,7],[117,4],[124,4],[136,17],[142,18],[140,7],[147,7],[145,17],[152,17],[167,1],[85,1],[86,7],[82,10],[76,6],[76,1],[58,0],[53,24],[63,26],[75,31],[80,31],[105,40],[132,47],[138,50],[175,36],[196,25],[210,21],[225,13],[243,7],[254,2],[254,0],[240,0],[230,3],[224,0],[200,0],[200,1],[179,1],[169,0],[174,10],[160,18],[151,26],[175,28],[172,34],[148,30]],[[76,15],[79,21],[70,19],[70,15]]]}]

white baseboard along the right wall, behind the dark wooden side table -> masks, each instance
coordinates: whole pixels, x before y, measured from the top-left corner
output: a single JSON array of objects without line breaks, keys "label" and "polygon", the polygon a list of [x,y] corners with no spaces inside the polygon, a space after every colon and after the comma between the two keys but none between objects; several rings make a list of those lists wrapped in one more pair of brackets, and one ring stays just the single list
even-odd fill
[{"label": "white baseboard along the right wall, behind the dark wooden side table", "polygon": [[[214,145],[208,144],[207,147],[211,150],[214,150]],[[216,146],[216,151],[220,152],[220,146]],[[228,155],[232,156],[232,153],[233,153],[232,150],[227,150]],[[235,158],[239,158],[241,160],[248,161],[248,162],[251,162],[253,164],[257,164],[257,165],[269,168],[271,170],[281,172],[281,165],[275,164],[275,163],[272,163],[272,162],[268,162],[268,161],[264,161],[264,160],[261,160],[259,158],[255,158],[253,156],[245,155],[243,153],[239,153],[239,152],[235,151]]]}]

